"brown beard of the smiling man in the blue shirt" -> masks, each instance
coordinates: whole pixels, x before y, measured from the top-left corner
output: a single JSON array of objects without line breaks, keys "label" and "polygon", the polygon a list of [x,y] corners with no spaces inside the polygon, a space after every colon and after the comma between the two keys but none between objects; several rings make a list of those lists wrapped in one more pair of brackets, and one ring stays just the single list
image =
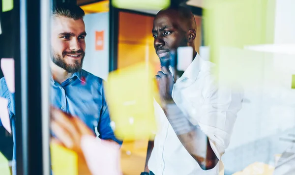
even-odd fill
[{"label": "brown beard of the smiling man in the blue shirt", "polygon": [[[72,64],[66,63],[66,60],[64,57],[66,55],[71,55],[71,54],[81,54],[81,57],[82,57],[81,62],[79,62],[79,60],[74,60],[74,63],[72,63]],[[53,61],[53,63],[55,63],[57,66],[63,68],[68,73],[75,73],[75,72],[79,72],[82,70],[84,57],[85,57],[85,52],[83,52],[82,50],[71,51],[71,52],[63,51],[62,55],[53,52],[52,61]]]}]

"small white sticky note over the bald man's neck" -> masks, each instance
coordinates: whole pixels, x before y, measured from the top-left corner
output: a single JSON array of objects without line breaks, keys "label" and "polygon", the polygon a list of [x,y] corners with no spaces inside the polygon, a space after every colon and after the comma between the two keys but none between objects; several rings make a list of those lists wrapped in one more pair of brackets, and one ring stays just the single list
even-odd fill
[{"label": "small white sticky note over the bald man's neck", "polygon": [[177,48],[177,70],[185,71],[193,61],[192,47]]}]

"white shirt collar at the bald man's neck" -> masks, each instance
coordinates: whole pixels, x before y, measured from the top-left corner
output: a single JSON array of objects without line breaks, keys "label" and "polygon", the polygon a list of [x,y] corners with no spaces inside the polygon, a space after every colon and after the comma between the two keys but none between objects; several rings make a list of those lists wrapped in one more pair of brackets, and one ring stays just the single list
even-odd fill
[{"label": "white shirt collar at the bald man's neck", "polygon": [[201,70],[201,63],[202,63],[202,58],[197,53],[195,59],[188,66],[188,68],[184,71],[184,73],[182,74],[182,76],[179,79],[181,79],[181,80],[183,80],[183,79],[196,80],[198,77],[198,74]]}]

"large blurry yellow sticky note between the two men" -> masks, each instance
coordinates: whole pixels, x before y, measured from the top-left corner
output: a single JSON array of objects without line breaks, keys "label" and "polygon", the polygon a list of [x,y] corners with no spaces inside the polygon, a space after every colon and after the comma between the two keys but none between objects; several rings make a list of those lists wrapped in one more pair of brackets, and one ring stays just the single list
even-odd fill
[{"label": "large blurry yellow sticky note between the two men", "polygon": [[154,138],[154,93],[151,65],[143,62],[109,75],[106,97],[115,135],[124,141]]}]

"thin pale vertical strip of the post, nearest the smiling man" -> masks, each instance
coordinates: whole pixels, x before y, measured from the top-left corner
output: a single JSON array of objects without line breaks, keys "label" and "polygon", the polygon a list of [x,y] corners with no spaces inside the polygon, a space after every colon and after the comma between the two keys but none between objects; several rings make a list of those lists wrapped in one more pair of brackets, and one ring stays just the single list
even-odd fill
[{"label": "thin pale vertical strip of the post, nearest the smiling man", "polygon": [[50,175],[50,55],[52,0],[41,2],[41,101],[43,175]]}]

